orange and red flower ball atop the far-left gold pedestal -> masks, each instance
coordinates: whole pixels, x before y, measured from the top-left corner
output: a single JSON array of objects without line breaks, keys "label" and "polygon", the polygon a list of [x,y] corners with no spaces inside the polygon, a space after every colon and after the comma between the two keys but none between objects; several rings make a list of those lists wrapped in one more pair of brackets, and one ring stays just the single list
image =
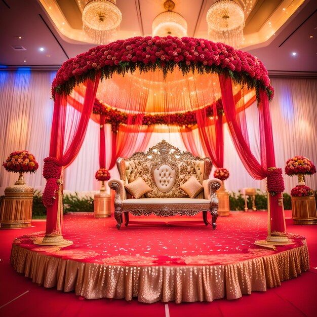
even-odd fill
[{"label": "orange and red flower ball atop the far-left gold pedestal", "polygon": [[34,155],[28,151],[12,152],[6,162],[3,163],[3,166],[8,172],[14,173],[35,173],[38,169],[38,163]]}]

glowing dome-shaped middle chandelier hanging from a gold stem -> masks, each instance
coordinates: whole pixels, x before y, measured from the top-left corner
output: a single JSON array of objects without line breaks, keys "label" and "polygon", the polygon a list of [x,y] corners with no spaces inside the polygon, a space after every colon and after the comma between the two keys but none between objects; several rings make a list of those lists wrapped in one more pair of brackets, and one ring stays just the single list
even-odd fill
[{"label": "glowing dome-shaped middle chandelier hanging from a gold stem", "polygon": [[165,12],[157,15],[152,22],[152,36],[187,36],[187,22],[174,9],[174,2],[167,0],[164,3]]}]

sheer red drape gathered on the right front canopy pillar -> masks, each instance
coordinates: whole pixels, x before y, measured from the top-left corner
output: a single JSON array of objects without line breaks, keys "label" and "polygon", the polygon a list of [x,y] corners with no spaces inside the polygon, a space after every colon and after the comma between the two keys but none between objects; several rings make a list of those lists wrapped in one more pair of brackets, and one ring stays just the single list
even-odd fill
[{"label": "sheer red drape gathered on the right front canopy pillar", "polygon": [[[219,82],[223,110],[226,116],[233,145],[248,173],[257,180],[266,178],[269,175],[267,172],[268,168],[275,167],[274,144],[270,112],[268,107],[268,97],[265,92],[260,89],[260,102],[258,105],[261,146],[260,164],[250,149],[249,136],[243,111],[238,113],[236,110],[236,105],[232,94],[231,79],[222,74],[219,75]],[[271,231],[285,232],[286,228],[284,222],[283,206],[279,206],[279,204],[276,203],[276,200],[278,200],[280,196],[281,194],[275,197],[270,197],[270,228]]]}]

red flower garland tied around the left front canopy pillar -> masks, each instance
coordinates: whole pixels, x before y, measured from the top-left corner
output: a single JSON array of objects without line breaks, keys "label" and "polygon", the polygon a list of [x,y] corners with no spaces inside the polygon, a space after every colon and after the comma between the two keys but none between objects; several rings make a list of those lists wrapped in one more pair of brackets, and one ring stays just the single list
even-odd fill
[{"label": "red flower garland tied around the left front canopy pillar", "polygon": [[46,157],[44,159],[43,176],[47,180],[43,191],[43,204],[45,207],[53,205],[55,193],[58,190],[57,180],[62,173],[62,167],[57,164],[56,157]]}]

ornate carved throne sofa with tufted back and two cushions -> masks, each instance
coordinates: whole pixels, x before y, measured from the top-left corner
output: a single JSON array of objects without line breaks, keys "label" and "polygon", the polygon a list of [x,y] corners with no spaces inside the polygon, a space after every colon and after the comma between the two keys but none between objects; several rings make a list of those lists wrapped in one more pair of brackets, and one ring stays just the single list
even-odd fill
[{"label": "ornate carved throne sofa with tufted back and two cushions", "polygon": [[203,213],[208,225],[207,213],[212,215],[216,228],[218,199],[216,190],[219,179],[208,179],[212,162],[209,157],[201,159],[189,152],[181,152],[166,141],[151,147],[148,152],[136,152],[128,159],[116,161],[120,180],[109,180],[115,190],[114,218],[120,229],[125,214],[140,216],[187,215]]}]

